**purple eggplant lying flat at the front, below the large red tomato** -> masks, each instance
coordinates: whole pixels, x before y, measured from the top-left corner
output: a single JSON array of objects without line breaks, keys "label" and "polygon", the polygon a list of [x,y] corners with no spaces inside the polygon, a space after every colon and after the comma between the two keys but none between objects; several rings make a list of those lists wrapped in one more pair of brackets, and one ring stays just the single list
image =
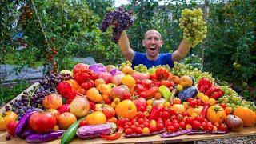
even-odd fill
[{"label": "purple eggplant lying flat at the front, below the large red tomato", "polygon": [[57,130],[57,131],[52,131],[50,133],[32,134],[26,137],[26,142],[30,142],[30,143],[48,142],[57,138],[61,138],[64,132],[65,130]]}]

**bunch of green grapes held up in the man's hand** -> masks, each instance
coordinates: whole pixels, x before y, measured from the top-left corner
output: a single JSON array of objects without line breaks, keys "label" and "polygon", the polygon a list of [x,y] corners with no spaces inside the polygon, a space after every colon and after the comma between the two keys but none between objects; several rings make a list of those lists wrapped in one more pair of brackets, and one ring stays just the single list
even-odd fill
[{"label": "bunch of green grapes held up in the man's hand", "polygon": [[196,46],[206,38],[206,22],[202,18],[202,10],[182,10],[182,18],[179,18],[179,26],[183,30],[183,38],[191,47]]}]

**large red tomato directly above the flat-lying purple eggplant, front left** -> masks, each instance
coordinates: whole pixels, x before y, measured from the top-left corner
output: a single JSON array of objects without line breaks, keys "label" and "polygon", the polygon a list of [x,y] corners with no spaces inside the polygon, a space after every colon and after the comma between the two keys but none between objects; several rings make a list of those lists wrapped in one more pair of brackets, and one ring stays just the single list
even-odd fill
[{"label": "large red tomato directly above the flat-lying purple eggplant, front left", "polygon": [[29,119],[29,127],[38,133],[46,133],[54,129],[56,118],[49,112],[35,112]]}]

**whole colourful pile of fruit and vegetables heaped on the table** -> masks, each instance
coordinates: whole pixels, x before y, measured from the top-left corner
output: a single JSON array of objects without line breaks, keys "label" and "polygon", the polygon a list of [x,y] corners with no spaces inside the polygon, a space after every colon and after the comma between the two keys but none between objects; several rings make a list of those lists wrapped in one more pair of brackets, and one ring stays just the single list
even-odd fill
[{"label": "whole colourful pile of fruit and vegetables heaped on the table", "polygon": [[174,62],[146,69],[79,63],[40,80],[1,114],[0,129],[26,142],[61,138],[171,138],[254,126],[256,106],[206,72]]}]

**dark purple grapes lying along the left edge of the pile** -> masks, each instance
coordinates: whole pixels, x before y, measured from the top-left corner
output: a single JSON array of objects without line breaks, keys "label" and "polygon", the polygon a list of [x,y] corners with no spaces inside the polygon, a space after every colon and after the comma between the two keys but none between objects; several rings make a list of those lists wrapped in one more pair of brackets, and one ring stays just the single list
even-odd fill
[{"label": "dark purple grapes lying along the left edge of the pile", "polygon": [[21,98],[10,102],[10,106],[6,106],[6,111],[12,110],[18,114],[18,119],[26,113],[27,110],[42,109],[42,99],[49,94],[57,93],[56,87],[62,80],[70,79],[68,75],[50,74],[39,80],[39,86],[34,86],[30,91],[24,91]]}]

